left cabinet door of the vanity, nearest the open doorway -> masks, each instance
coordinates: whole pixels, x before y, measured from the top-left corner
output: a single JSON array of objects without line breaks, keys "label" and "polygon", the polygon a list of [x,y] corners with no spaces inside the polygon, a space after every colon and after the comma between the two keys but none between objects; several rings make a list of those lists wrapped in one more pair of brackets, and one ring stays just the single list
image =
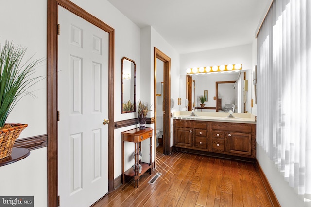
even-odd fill
[{"label": "left cabinet door of the vanity, nearest the open doorway", "polygon": [[175,146],[192,147],[192,128],[175,128]]}]

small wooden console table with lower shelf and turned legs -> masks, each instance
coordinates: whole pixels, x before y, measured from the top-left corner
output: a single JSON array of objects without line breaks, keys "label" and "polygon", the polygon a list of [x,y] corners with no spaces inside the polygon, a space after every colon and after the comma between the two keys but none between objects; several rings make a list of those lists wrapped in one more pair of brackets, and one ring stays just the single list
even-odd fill
[{"label": "small wooden console table with lower shelf and turned legs", "polygon": [[[140,130],[139,128],[131,129],[128,131],[121,132],[121,150],[122,150],[122,184],[124,184],[125,175],[134,177],[134,187],[138,188],[139,178],[142,174],[149,170],[149,175],[151,175],[152,170],[152,128],[146,128]],[[150,139],[150,149],[149,149],[149,163],[139,162],[139,149],[141,150],[141,141]],[[131,167],[130,169],[124,169],[124,142],[133,142],[135,143],[135,170]],[[141,164],[142,170],[141,173],[138,171],[138,164]]]}]

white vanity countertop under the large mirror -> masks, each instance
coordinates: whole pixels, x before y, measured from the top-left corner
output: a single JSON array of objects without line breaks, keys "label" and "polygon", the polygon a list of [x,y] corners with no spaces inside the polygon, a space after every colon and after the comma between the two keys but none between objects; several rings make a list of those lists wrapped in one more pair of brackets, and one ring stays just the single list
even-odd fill
[{"label": "white vanity countertop under the large mirror", "polygon": [[191,113],[191,111],[178,111],[173,114],[173,119],[256,124],[255,115],[250,113],[233,113],[234,118],[228,118],[229,113],[225,112],[195,111],[195,116],[191,116]]}]

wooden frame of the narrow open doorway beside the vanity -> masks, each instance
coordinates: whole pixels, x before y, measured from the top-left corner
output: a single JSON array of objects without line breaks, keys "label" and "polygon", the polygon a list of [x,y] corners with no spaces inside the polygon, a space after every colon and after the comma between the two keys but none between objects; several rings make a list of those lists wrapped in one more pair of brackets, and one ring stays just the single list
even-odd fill
[{"label": "wooden frame of the narrow open doorway beside the vanity", "polygon": [[[171,58],[154,47],[154,116],[156,131],[156,59],[163,61],[163,154],[171,154]],[[156,133],[155,133],[156,134]],[[154,149],[156,139],[154,139]],[[154,156],[155,163],[155,156]],[[156,166],[156,164],[155,164]]]}]

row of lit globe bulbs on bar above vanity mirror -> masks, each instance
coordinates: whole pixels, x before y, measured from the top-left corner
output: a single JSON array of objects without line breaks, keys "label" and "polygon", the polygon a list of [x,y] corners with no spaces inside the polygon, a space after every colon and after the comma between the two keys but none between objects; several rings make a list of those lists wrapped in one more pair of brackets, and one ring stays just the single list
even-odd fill
[{"label": "row of lit globe bulbs on bar above vanity mirror", "polygon": [[207,66],[207,67],[193,67],[187,68],[187,74],[204,74],[204,73],[211,73],[211,72],[224,72],[224,71],[233,71],[233,70],[242,70],[242,64],[228,64],[228,65],[214,65],[214,66]]}]

